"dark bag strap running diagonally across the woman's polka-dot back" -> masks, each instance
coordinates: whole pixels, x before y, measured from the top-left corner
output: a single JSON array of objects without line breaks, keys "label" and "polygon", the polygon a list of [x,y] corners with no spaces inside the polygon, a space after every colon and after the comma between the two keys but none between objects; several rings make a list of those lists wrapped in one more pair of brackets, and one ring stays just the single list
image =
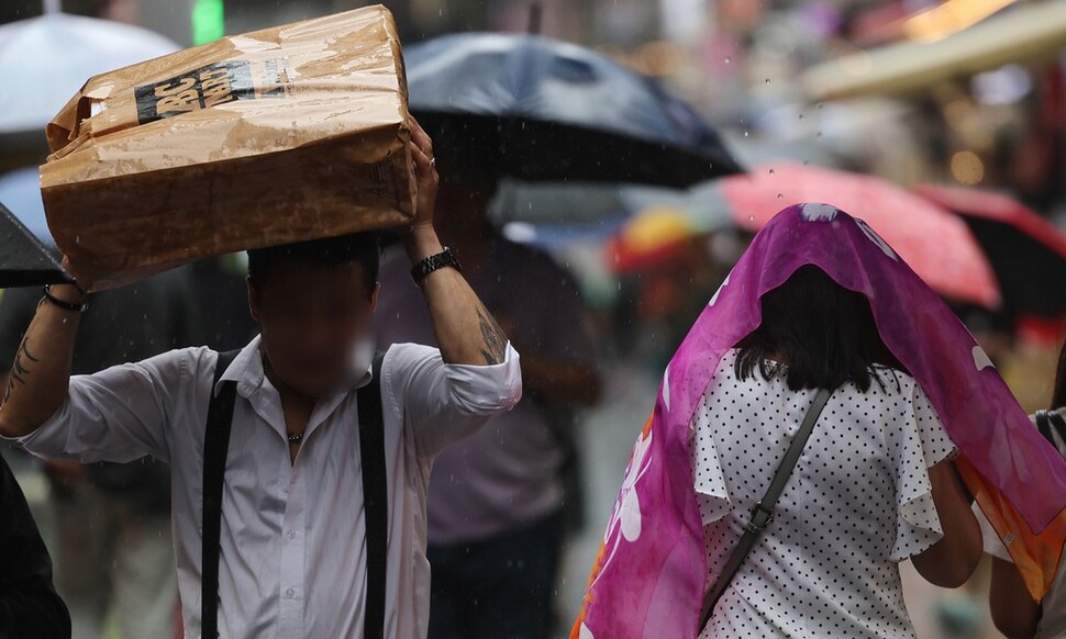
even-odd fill
[{"label": "dark bag strap running diagonally across the woman's polka-dot back", "polygon": [[788,447],[788,451],[785,452],[785,458],[781,459],[780,466],[777,467],[777,472],[774,473],[774,479],[770,481],[769,487],[766,489],[766,494],[752,506],[752,518],[747,522],[747,526],[744,527],[744,535],[741,536],[741,540],[736,542],[736,547],[733,549],[732,554],[730,554],[729,561],[725,562],[725,568],[722,569],[721,576],[718,578],[718,581],[714,582],[714,585],[711,586],[711,590],[703,597],[700,632],[707,628],[707,623],[711,620],[714,606],[718,605],[719,599],[725,594],[725,588],[733,581],[733,578],[736,576],[736,571],[740,570],[741,564],[744,563],[744,559],[752,551],[752,548],[755,547],[755,542],[763,535],[763,530],[774,520],[774,506],[777,505],[778,497],[785,491],[785,484],[788,483],[788,478],[792,474],[792,469],[796,468],[796,462],[799,461],[800,453],[803,452],[803,447],[807,446],[811,430],[814,429],[814,424],[822,414],[825,402],[829,401],[832,394],[831,391],[824,389],[818,391],[818,394],[814,396],[814,402],[807,411],[807,416],[803,417],[800,429],[796,433],[796,437]]}]

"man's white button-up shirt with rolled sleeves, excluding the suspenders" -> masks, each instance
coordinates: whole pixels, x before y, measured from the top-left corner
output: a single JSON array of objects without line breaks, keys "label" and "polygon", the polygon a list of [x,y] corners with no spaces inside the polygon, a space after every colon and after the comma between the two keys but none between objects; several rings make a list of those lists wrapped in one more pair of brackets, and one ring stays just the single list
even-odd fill
[{"label": "man's white button-up shirt with rolled sleeves, excluding the suspenders", "polygon": [[[259,339],[223,380],[237,402],[222,498],[219,629],[223,639],[363,636],[366,539],[356,389],[323,397],[290,461]],[[41,457],[171,467],[174,540],[185,634],[200,637],[203,434],[218,354],[175,350],[70,380],[69,399],[18,441]],[[389,349],[381,372],[389,487],[385,636],[425,637],[426,490],[433,457],[521,396],[518,354],[498,366],[445,365],[437,349]]]}]

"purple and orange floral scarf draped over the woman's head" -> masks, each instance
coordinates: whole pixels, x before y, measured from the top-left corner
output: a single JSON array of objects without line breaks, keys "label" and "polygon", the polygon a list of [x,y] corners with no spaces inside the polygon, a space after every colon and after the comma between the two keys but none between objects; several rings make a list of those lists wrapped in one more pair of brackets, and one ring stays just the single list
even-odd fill
[{"label": "purple and orange floral scarf draped over the woman's head", "polygon": [[884,239],[834,206],[798,204],[755,237],[670,360],[571,639],[697,636],[708,563],[692,414],[722,356],[759,326],[762,296],[806,265],[867,298],[881,340],[929,396],[960,452],[963,480],[1031,594],[1047,591],[1066,539],[1066,461],[954,313]]}]

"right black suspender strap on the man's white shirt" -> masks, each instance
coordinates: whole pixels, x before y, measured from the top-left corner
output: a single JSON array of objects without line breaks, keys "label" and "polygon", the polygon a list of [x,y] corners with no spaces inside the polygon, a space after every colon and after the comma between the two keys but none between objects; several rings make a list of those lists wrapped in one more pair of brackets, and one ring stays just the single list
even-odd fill
[{"label": "right black suspender strap on the man's white shirt", "polygon": [[385,571],[389,549],[389,481],[385,467],[385,416],[381,407],[381,363],[374,356],[370,383],[359,389],[359,450],[363,458],[363,503],[366,524],[366,617],[364,639],[385,636]]}]

